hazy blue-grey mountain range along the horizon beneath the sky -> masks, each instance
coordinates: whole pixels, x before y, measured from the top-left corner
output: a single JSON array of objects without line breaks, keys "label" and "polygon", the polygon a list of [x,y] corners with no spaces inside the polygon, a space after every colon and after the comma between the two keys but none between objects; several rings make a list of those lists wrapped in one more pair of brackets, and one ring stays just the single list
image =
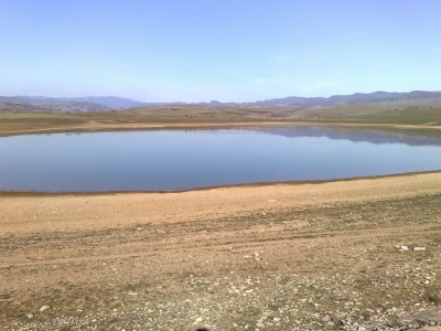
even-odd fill
[{"label": "hazy blue-grey mountain range along the horizon beneath the sky", "polygon": [[[50,98],[43,96],[0,96],[0,111],[108,111],[114,109],[127,109],[136,107],[149,107],[161,105],[186,105],[185,103],[141,103],[128,98],[115,96],[107,97],[77,97],[77,98]],[[260,102],[243,103],[247,105],[289,105],[301,108],[333,106],[338,104],[441,104],[441,92],[413,90],[409,93],[355,93],[352,95],[333,95],[324,97],[297,97],[266,99]],[[241,105],[239,103],[197,103],[192,105],[228,106]]]}]

